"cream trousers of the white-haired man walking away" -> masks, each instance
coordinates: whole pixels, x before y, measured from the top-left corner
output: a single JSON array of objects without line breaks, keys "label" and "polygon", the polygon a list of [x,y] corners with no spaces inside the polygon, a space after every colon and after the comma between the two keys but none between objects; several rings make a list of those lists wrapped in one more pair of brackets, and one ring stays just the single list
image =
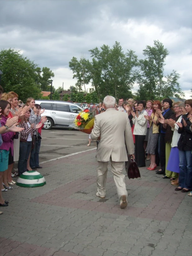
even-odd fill
[{"label": "cream trousers of the white-haired man walking away", "polygon": [[[125,175],[122,174],[124,169],[124,162],[114,162],[111,161],[111,171],[113,173],[113,178],[115,181],[115,185],[117,187],[117,194],[119,199],[122,195],[128,195],[125,184]],[[107,180],[107,165],[108,162],[99,162],[98,161],[98,169],[97,169],[97,191],[100,196],[105,196],[106,190],[106,180]]]}]

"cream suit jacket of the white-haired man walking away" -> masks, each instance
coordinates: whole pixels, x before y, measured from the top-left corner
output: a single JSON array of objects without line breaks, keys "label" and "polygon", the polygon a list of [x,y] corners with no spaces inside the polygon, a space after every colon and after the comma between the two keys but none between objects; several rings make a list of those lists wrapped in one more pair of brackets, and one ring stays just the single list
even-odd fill
[{"label": "cream suit jacket of the white-haired man walking away", "polygon": [[97,161],[107,162],[110,157],[114,162],[127,161],[126,146],[128,153],[134,154],[133,135],[127,113],[108,108],[96,115],[91,139],[99,136],[101,139],[96,154]]}]

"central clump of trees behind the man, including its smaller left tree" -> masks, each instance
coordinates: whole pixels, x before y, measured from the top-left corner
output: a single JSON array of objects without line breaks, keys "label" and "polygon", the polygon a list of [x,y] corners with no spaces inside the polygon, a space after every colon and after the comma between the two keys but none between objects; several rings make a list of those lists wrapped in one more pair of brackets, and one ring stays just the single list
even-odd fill
[{"label": "central clump of trees behind the man, including its smaller left tree", "polygon": [[137,74],[134,70],[137,66],[137,56],[132,50],[124,53],[120,43],[115,42],[112,48],[103,45],[101,50],[96,47],[89,52],[91,62],[85,58],[78,61],[76,57],[69,62],[79,91],[82,85],[91,82],[97,93],[97,100],[101,101],[107,94],[119,98],[132,89]]}]

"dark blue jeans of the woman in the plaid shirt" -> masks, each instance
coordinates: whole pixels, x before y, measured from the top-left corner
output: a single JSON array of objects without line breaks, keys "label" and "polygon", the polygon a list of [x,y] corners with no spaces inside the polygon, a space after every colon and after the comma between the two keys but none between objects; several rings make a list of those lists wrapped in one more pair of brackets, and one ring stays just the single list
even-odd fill
[{"label": "dark blue jeans of the woman in the plaid shirt", "polygon": [[31,151],[32,141],[20,141],[19,146],[19,161],[18,161],[18,173],[21,175],[27,171],[27,160]]}]

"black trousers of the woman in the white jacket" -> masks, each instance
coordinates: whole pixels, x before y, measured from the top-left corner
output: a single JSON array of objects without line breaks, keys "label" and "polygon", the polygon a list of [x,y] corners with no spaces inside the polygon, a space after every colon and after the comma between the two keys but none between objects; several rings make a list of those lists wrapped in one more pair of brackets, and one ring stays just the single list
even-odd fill
[{"label": "black trousers of the woman in the white jacket", "polygon": [[135,162],[140,167],[145,167],[145,135],[135,135]]}]

